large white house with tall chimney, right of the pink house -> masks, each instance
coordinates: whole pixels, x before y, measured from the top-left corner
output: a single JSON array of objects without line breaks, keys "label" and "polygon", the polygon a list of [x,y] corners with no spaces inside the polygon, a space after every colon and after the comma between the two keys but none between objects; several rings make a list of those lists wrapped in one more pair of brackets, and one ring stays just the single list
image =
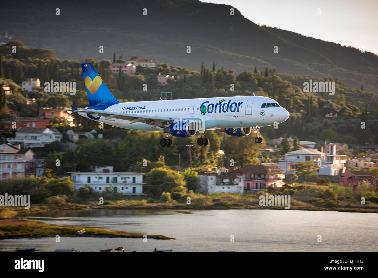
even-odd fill
[{"label": "large white house with tall chimney, right of the pink house", "polygon": [[300,149],[287,152],[284,159],[278,160],[279,168],[284,174],[295,174],[294,163],[301,163],[308,160],[319,165],[318,175],[338,176],[345,172],[345,154],[336,154],[336,146],[331,148],[330,154],[325,154],[317,149]]}]

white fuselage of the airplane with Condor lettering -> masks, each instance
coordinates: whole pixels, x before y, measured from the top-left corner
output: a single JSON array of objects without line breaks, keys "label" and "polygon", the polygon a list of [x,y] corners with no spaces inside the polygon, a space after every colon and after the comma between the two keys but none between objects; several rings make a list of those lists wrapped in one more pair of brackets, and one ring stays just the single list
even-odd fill
[{"label": "white fuselage of the airplane with Condor lettering", "polygon": [[[262,107],[262,105],[265,107]],[[139,101],[114,104],[104,111],[132,113],[136,118],[143,118],[143,115],[175,119],[195,118],[204,123],[205,130],[270,126],[282,123],[289,118],[289,113],[285,108],[279,106],[275,100],[265,96]],[[79,114],[89,118],[87,113],[79,112]],[[146,123],[130,124],[128,120],[104,119],[105,117],[101,117],[97,121],[131,130],[153,131],[162,129],[161,127],[151,128],[151,125]]]}]

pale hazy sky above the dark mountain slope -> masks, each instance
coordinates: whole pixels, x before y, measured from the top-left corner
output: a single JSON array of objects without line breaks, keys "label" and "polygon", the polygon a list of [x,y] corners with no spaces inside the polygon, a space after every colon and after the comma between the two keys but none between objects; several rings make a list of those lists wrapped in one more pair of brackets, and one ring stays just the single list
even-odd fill
[{"label": "pale hazy sky above the dark mountain slope", "polygon": [[[378,53],[378,0],[203,0],[237,8],[254,23]],[[318,16],[318,8],[322,15]]]}]

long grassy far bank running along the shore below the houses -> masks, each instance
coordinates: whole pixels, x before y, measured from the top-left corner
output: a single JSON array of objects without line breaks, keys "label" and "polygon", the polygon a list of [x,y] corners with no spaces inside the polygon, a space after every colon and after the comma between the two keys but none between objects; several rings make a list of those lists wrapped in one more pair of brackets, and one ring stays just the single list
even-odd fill
[{"label": "long grassy far bank running along the shore below the houses", "polygon": [[[46,210],[75,210],[102,207],[107,209],[285,209],[283,206],[260,206],[259,197],[265,196],[264,191],[246,194],[196,194],[187,193],[181,200],[153,199],[139,196],[122,196],[123,199],[106,200],[103,204],[88,201],[83,203],[61,202],[57,204],[42,203],[31,205],[28,210],[23,207],[12,207],[19,213]],[[369,186],[360,186],[352,192],[351,188],[331,184],[316,185],[314,183],[298,184],[293,188],[281,188],[270,195],[290,196],[291,210],[333,210],[345,212],[378,213],[378,194]],[[190,203],[187,203],[187,197]],[[364,204],[361,203],[364,198]]]}]

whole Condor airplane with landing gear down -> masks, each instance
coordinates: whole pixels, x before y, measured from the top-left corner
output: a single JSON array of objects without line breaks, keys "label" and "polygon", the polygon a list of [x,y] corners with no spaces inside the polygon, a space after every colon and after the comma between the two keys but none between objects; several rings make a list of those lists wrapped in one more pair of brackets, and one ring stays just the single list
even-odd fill
[{"label": "whole Condor airplane with landing gear down", "polygon": [[168,137],[189,138],[197,131],[199,146],[207,146],[206,130],[220,130],[234,137],[256,135],[261,143],[260,127],[286,121],[290,114],[274,99],[265,96],[231,96],[121,103],[114,98],[90,63],[81,64],[89,106],[72,112],[94,121],[130,130],[162,131],[160,146],[169,147]]}]

